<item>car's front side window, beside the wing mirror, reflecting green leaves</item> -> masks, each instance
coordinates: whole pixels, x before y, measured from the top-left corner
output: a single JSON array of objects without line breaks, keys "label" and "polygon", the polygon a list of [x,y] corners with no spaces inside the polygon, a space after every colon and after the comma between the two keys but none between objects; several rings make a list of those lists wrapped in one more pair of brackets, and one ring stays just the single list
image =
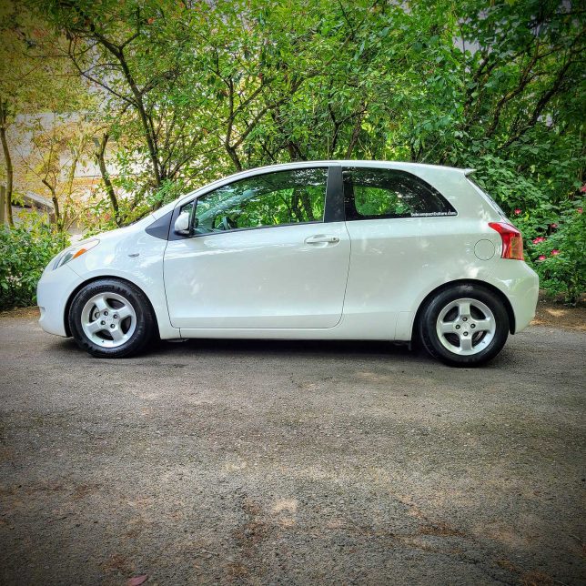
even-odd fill
[{"label": "car's front side window, beside the wing mirror, reflecting green leaves", "polygon": [[240,179],[197,199],[196,234],[321,222],[328,169],[278,171]]}]

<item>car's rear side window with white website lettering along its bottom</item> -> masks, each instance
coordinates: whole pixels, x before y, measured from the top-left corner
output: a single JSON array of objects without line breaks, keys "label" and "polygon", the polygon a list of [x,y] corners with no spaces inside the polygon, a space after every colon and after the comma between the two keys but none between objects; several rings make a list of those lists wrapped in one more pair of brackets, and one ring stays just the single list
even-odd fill
[{"label": "car's rear side window with white website lettering along its bottom", "polygon": [[437,189],[405,171],[346,167],[343,179],[349,220],[456,215]]}]

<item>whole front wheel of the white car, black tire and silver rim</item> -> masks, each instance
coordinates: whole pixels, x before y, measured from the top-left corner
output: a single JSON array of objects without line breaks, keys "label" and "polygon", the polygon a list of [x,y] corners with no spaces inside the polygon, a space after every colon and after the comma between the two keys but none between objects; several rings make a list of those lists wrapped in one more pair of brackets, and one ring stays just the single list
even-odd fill
[{"label": "whole front wheel of the white car, black tire and silver rim", "polygon": [[[99,323],[106,324],[106,326],[92,335],[86,331],[83,323],[86,323],[87,326],[88,312],[93,313],[94,317],[99,315],[97,313],[99,308],[90,301],[101,296],[106,298],[108,305],[103,313],[108,315],[103,317],[104,321],[99,321]],[[123,298],[124,302],[120,301],[120,298]],[[119,320],[116,308],[126,308],[126,304],[131,307],[134,313]],[[90,307],[94,308],[88,309]],[[117,322],[113,325],[114,318]],[[71,303],[67,319],[71,335],[77,345],[97,358],[121,359],[136,355],[145,349],[157,328],[150,303],[145,294],[131,283],[116,278],[93,281],[80,289]],[[91,320],[90,326],[93,326],[94,322],[98,322],[97,318],[90,317],[89,319]],[[107,329],[108,326],[116,329],[116,332],[119,327],[120,333],[116,335],[122,339],[112,338]],[[109,345],[116,346],[109,347]]]}]

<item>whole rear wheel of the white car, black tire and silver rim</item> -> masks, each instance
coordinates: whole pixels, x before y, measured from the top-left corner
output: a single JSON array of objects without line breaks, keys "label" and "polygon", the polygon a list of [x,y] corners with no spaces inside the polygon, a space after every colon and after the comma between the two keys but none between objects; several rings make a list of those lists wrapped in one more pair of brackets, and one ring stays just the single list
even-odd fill
[{"label": "whole rear wheel of the white car, black tire and silver rim", "polygon": [[[470,313],[466,314],[462,308],[468,305],[468,300],[472,303]],[[453,332],[440,334],[438,328],[451,328]],[[480,328],[491,329],[480,331]],[[500,298],[490,289],[480,285],[458,285],[440,291],[426,302],[419,316],[418,334],[433,358],[450,366],[480,366],[493,359],[505,345],[509,336],[509,315]]]}]

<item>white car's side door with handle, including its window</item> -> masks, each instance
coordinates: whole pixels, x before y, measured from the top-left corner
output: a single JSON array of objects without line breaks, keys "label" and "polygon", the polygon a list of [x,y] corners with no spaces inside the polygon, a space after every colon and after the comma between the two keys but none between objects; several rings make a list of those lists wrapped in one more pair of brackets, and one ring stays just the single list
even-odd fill
[{"label": "white car's side door with handle, including its window", "polygon": [[265,172],[187,204],[194,234],[165,253],[173,326],[336,326],[350,247],[343,218],[329,221],[342,194],[327,178],[328,167]]}]

